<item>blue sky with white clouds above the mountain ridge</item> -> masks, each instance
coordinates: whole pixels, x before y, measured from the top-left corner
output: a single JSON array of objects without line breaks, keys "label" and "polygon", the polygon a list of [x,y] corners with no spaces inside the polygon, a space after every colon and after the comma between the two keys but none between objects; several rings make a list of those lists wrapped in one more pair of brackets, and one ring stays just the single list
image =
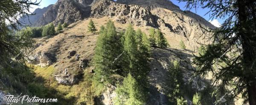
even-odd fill
[{"label": "blue sky with white clouds above the mountain ridge", "polygon": [[[32,1],[35,1],[35,0],[32,0]],[[175,5],[179,6],[181,10],[186,10],[185,8],[185,5],[186,3],[185,2],[180,2],[178,0],[171,0],[172,3],[174,3]],[[31,11],[35,11],[36,8],[44,8],[44,7],[47,7],[49,6],[50,4],[55,4],[57,2],[57,0],[42,0],[41,3],[40,3],[40,6],[33,6],[33,8],[31,8]],[[206,19],[207,21],[211,22],[213,25],[215,25],[216,27],[219,27],[220,24],[219,23],[222,23],[223,20],[222,19],[213,19],[213,20],[209,20],[209,14],[206,14],[209,9],[202,9],[202,8],[198,8],[196,11],[195,9],[192,9],[190,10],[198,15],[200,15],[201,17],[204,17],[204,19]],[[206,14],[206,15],[205,15]]]}]

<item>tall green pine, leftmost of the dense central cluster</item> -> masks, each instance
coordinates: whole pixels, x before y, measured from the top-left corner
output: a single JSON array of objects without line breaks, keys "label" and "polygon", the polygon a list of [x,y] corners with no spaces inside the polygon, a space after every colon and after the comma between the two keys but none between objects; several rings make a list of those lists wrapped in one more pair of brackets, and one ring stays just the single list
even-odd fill
[{"label": "tall green pine, leftmost of the dense central cluster", "polygon": [[106,82],[111,81],[110,75],[118,69],[119,61],[115,58],[122,53],[121,36],[116,32],[112,21],[109,21],[106,28],[100,28],[99,37],[96,41],[93,64],[95,66],[96,79]]}]

